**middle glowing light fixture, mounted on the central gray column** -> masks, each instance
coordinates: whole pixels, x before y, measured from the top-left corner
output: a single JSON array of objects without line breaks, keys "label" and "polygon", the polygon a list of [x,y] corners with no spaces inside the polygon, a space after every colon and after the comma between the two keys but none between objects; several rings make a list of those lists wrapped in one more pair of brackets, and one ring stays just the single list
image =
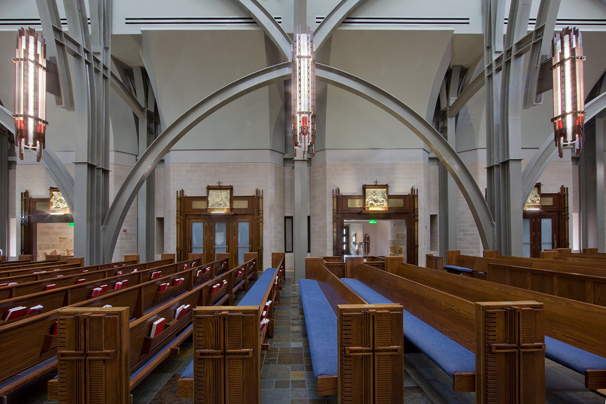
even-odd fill
[{"label": "middle glowing light fixture, mounted on the central gray column", "polygon": [[305,160],[316,152],[316,56],[311,30],[295,30],[293,41],[293,156]]}]

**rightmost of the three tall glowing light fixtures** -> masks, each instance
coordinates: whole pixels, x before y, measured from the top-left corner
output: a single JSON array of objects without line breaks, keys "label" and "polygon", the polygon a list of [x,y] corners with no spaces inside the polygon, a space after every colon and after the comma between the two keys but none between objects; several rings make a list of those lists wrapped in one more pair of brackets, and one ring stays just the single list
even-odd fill
[{"label": "rightmost of the three tall glowing light fixtures", "polygon": [[585,95],[583,90],[583,46],[578,28],[556,33],[553,54],[553,131],[559,156],[565,146],[574,145],[579,154],[583,145]]}]

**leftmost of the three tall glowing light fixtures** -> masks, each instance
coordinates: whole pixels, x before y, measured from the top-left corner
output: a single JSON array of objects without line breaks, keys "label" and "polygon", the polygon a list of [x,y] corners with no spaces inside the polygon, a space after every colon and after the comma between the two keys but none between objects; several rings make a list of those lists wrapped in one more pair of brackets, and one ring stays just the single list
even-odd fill
[{"label": "leftmost of the three tall glowing light fixtures", "polygon": [[15,52],[15,143],[19,158],[24,149],[42,158],[46,132],[46,45],[32,28],[21,28]]}]

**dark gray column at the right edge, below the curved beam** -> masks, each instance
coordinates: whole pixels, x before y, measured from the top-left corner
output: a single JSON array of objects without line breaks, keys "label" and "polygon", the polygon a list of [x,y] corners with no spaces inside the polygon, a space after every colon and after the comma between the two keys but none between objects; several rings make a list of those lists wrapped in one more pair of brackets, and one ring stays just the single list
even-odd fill
[{"label": "dark gray column at the right edge, below the curved beam", "polygon": [[604,230],[604,114],[585,129],[581,150],[581,248],[598,248],[605,252]]}]

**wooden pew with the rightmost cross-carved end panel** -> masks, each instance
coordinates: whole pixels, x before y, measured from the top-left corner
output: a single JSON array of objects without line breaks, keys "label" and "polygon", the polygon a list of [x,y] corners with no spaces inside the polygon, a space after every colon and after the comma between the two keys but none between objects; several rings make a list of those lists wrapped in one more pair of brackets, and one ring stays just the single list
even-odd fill
[{"label": "wooden pew with the rightmost cross-carved end panel", "polygon": [[[425,271],[436,276],[453,276],[462,282],[468,279]],[[418,348],[428,349],[424,353],[447,373],[452,373],[454,391],[475,391],[476,403],[492,403],[495,394],[502,403],[545,402],[542,303],[534,299],[499,297],[466,299],[377,270],[357,259],[348,260],[347,277],[404,306],[405,336],[413,341],[416,338]],[[502,301],[495,302],[496,299]],[[434,331],[420,323],[416,325],[411,316]],[[452,342],[441,342],[437,347],[423,345],[440,337],[435,331]],[[454,354],[459,349],[453,342],[475,354],[474,374],[455,371],[453,362],[458,359],[448,357],[449,352]],[[502,349],[505,346],[507,348]]]}]

